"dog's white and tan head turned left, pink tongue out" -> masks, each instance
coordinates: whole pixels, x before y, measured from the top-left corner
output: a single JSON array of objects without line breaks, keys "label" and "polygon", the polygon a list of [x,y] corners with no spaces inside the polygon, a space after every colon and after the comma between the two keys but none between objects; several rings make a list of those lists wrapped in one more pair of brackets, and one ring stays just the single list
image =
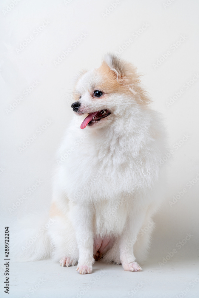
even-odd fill
[{"label": "dog's white and tan head turned left, pink tongue out", "polygon": [[98,69],[82,72],[71,105],[76,114],[84,115],[81,129],[108,126],[132,105],[147,104],[139,82],[135,67],[115,55],[107,55]]}]

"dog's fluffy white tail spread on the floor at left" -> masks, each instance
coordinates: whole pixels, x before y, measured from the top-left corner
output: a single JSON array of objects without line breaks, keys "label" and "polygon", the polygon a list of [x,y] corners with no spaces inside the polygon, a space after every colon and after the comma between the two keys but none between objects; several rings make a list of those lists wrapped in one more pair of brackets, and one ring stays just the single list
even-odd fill
[{"label": "dog's fluffy white tail spread on the floor at left", "polygon": [[10,230],[10,257],[13,261],[48,259],[51,243],[48,236],[48,216],[26,215]]}]

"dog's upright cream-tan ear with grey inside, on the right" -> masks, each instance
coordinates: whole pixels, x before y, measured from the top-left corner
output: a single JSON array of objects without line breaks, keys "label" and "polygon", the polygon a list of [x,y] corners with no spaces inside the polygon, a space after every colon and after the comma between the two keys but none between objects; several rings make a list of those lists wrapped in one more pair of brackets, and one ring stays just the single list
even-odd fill
[{"label": "dog's upright cream-tan ear with grey inside, on the right", "polygon": [[107,54],[105,55],[103,62],[115,73],[119,83],[133,87],[134,84],[139,82],[139,75],[137,74],[136,68],[131,63],[119,58],[117,55]]}]

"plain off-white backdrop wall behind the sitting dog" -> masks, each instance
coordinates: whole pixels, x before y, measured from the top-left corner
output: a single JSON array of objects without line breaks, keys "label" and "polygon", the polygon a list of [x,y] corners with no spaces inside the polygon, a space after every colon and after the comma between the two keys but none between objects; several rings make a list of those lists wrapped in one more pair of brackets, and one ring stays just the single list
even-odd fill
[{"label": "plain off-white backdrop wall behind the sitting dog", "polygon": [[[151,94],[152,107],[163,114],[173,149],[168,162],[166,201],[155,216],[157,226],[150,255],[161,260],[186,233],[191,233],[193,237],[182,247],[178,257],[197,259],[199,181],[190,189],[186,184],[199,172],[199,78],[190,81],[199,74],[199,2],[168,0],[170,4],[164,5],[166,1],[160,0],[120,0],[110,9],[112,11],[107,10],[114,2],[21,0],[13,5],[11,1],[1,1],[2,226],[11,226],[17,216],[26,212],[48,209],[55,152],[72,117],[70,105],[75,74],[82,68],[100,66],[106,52],[118,52],[123,47],[121,58],[132,62],[144,74],[142,81]],[[36,35],[34,30],[44,21],[49,24]],[[147,24],[145,30],[141,29],[143,24]],[[138,30],[139,36],[136,35]],[[76,47],[72,46],[82,32],[87,34],[86,38]],[[18,51],[30,35],[33,35],[31,42]],[[185,40],[173,50],[173,44],[181,35]],[[129,38],[133,42],[125,49]],[[54,61],[69,47],[72,52],[55,66]],[[171,54],[166,59],[161,58],[166,57],[167,51]],[[161,65],[154,67],[160,58]],[[24,90],[31,89],[34,81],[39,82],[38,86],[26,96]],[[184,85],[187,81],[190,81],[188,89]],[[183,94],[168,107],[170,97],[181,89]],[[20,96],[24,99],[8,111]],[[47,119],[52,123],[38,134],[37,129]],[[19,147],[33,134],[36,139],[20,152]],[[182,141],[184,134],[189,136],[185,142]],[[183,143],[181,147],[175,145],[179,141]],[[26,190],[37,179],[43,182],[27,195]],[[170,206],[169,201],[185,187],[187,192]],[[9,211],[22,195],[27,195],[27,199]]]}]

